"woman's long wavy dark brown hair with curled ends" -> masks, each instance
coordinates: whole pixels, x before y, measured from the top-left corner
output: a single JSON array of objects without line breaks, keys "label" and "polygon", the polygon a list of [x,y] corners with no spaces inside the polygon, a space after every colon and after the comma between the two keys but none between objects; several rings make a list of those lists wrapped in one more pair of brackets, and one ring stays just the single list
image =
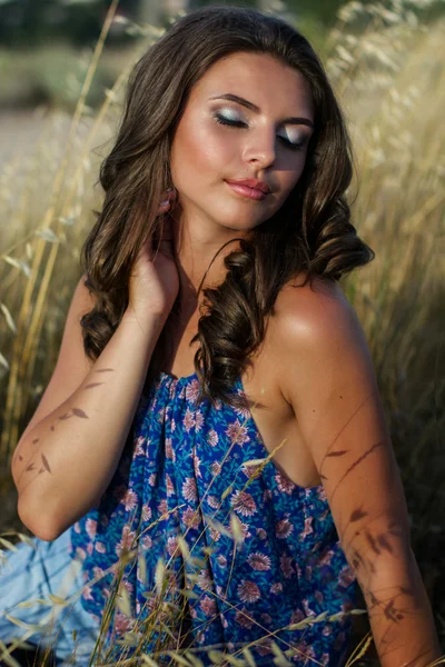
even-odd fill
[{"label": "woman's long wavy dark brown hair with curled ends", "polygon": [[[268,53],[308,81],[315,111],[305,169],[294,191],[270,219],[240,239],[224,259],[227,273],[202,290],[195,370],[200,397],[240,405],[230,387],[264,339],[280,289],[304,273],[338,280],[374,259],[350,222],[345,191],[353,177],[350,139],[324,67],[307,39],[286,21],[255,9],[211,6],[170,29],[136,63],[117,139],[100,168],[105,201],[82,247],[86,285],[96,297],[81,325],[86,354],[102,351],[128,306],[129,272],[141,243],[158,230],[158,202],[171,186],[169,157],[175,128],[190,90],[220,58]],[[162,366],[166,320],[145,390]],[[201,311],[200,311],[201,315]]]}]

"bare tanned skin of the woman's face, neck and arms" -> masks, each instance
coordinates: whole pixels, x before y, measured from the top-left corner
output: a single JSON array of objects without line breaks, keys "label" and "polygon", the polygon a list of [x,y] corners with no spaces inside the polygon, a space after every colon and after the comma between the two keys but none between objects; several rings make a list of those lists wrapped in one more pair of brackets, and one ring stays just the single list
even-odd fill
[{"label": "bare tanned skin of the woman's face, neck and arms", "polygon": [[[250,108],[211,99],[226,93],[244,98]],[[221,116],[225,122],[240,125],[221,125]],[[306,121],[284,122],[289,117]],[[171,148],[176,199],[171,202],[170,227],[166,228],[171,240],[164,242],[156,261],[150,252],[141,250],[131,278],[125,322],[96,365],[89,367],[88,375],[83,374],[83,381],[77,377],[81,388],[65,386],[69,398],[60,406],[60,399],[56,402],[56,389],[63,381],[72,381],[63,372],[68,368],[65,360],[73,352],[68,341],[76,342],[79,358],[82,354],[80,334],[71,334],[78,331],[80,311],[87,306],[85,287],[78,286],[60,368],[42,398],[43,407],[39,406],[31,421],[33,428],[30,424],[19,442],[18,450],[28,460],[30,441],[40,437],[47,459],[55,459],[51,465],[57,475],[50,479],[50,475],[42,474],[40,491],[33,492],[23,491],[23,464],[18,459],[13,462],[19,504],[23,498],[23,520],[28,517],[30,525],[39,527],[39,512],[30,508],[43,508],[43,498],[53,499],[52,512],[46,506],[50,518],[41,532],[60,534],[76,512],[87,511],[111,478],[159,327],[171,308],[177,287],[181,293],[181,330],[171,332],[178,347],[170,361],[177,376],[194,371],[195,350],[190,351],[188,344],[199,318],[197,288],[201,278],[216,251],[234,239],[211,265],[205,286],[224,280],[224,257],[236,248],[235,239],[248,235],[283,206],[303,172],[312,120],[310,90],[303,76],[267,54],[233,53],[214,64],[192,89]],[[299,143],[299,148],[295,150],[289,141]],[[255,201],[234,192],[225,182],[243,178],[266,180],[271,193]],[[154,302],[156,308],[150,311]],[[304,441],[307,458],[300,468],[312,467],[323,481],[343,548],[365,595],[383,667],[425,667],[439,657],[441,650],[409,546],[402,482],[356,313],[333,281],[320,279],[315,289],[294,289],[289,283],[278,296],[264,350],[267,356],[260,355],[256,366],[264,374],[270,369],[274,376],[270,404],[277,406],[278,412],[291,414],[298,427],[299,439],[290,439],[287,459],[281,459],[281,465],[290,469],[291,459],[299,460]],[[126,365],[120,364],[123,356]],[[96,395],[82,391],[106,368],[116,370],[116,376],[105,387],[98,387]],[[266,379],[267,375],[263,377]],[[119,401],[119,386],[120,397],[126,396],[126,400]],[[76,424],[75,434],[75,426],[65,420],[58,424],[58,436],[49,434],[50,424],[75,404],[88,412],[89,424]],[[98,436],[95,425],[100,425],[100,456],[91,451]],[[88,456],[95,479],[76,472],[76,461],[85,462],[81,455]],[[96,485],[93,492],[91,485]],[[28,482],[28,489],[31,488]],[[79,504],[82,491],[88,498]],[[62,511],[61,494],[70,496],[71,502],[67,500]],[[72,501],[77,502],[76,511]]]}]

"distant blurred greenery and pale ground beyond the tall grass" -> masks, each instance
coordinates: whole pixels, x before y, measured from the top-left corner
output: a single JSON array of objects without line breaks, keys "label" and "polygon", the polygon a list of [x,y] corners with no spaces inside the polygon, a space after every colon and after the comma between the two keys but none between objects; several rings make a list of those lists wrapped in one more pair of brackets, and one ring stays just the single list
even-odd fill
[{"label": "distant blurred greenery and pale ground beyond the tall grass", "polygon": [[[30,109],[73,108],[89,50],[110,4],[111,0],[0,0],[0,160],[34,138],[40,123]],[[87,103],[92,108],[100,103],[122,54],[140,40],[141,30],[132,22],[167,27],[179,13],[205,4],[205,0],[120,0]],[[245,4],[291,13],[322,43],[340,0]]]}]

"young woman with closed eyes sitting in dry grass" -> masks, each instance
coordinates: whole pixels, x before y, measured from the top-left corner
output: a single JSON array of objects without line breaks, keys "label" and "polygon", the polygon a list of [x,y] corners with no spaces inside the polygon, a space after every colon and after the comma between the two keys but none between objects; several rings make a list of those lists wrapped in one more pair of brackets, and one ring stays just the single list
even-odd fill
[{"label": "young woman with closed eyes sitting in dry grass", "polygon": [[[293,663],[342,665],[357,583],[384,667],[438,657],[370,355],[338,285],[374,257],[349,220],[350,179],[326,73],[283,20],[195,11],[136,64],[60,357],[12,461],[49,564],[12,554],[20,586],[41,593],[71,561],[88,583],[59,659],[76,628],[88,664],[119,589],[115,656],[167,664],[167,646],[204,665],[209,647],[246,646],[270,665],[271,641]],[[144,636],[129,653],[128,630]]]}]

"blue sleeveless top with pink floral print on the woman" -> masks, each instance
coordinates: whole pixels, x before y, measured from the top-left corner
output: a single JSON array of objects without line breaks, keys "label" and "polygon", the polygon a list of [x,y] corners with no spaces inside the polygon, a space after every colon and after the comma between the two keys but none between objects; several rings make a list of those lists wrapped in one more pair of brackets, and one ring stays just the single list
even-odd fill
[{"label": "blue sleeveless top with pink floral print on the woman", "polygon": [[[245,396],[240,378],[231,390]],[[357,585],[323,486],[303,488],[264,462],[247,407],[199,402],[198,394],[196,374],[155,378],[132,447],[98,507],[71,527],[85,609],[100,621],[118,595],[108,641],[119,657],[144,636],[144,653],[167,664],[186,636],[202,665],[214,664],[210,648],[245,659],[245,647],[270,665],[273,643],[293,664],[343,665]],[[149,633],[144,621],[155,614]]]}]

